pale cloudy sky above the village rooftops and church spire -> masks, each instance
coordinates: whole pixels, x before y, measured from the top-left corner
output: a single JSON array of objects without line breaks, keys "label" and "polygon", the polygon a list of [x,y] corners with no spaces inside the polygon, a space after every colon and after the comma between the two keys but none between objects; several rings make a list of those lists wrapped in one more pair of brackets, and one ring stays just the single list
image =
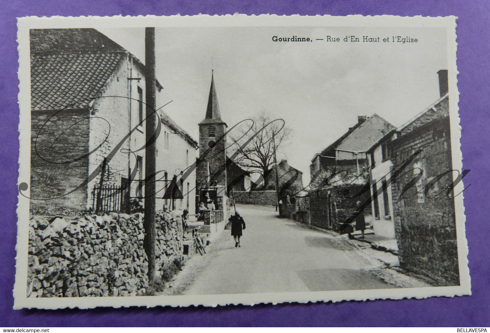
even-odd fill
[{"label": "pale cloudy sky above the village rooftops and church spire", "polygon": [[[98,30],[144,61],[144,28]],[[294,35],[315,40],[272,41]],[[347,35],[379,36],[380,42],[342,42]],[[389,36],[418,42],[383,43]],[[302,171],[304,185],[314,155],[358,115],[376,113],[401,126],[439,98],[437,71],[448,68],[442,28],[157,27],[155,44],[156,76],[164,87],[159,103],[172,100],[164,109],[173,120],[197,141],[214,70],[228,127],[266,111],[293,129],[277,158]]]}]

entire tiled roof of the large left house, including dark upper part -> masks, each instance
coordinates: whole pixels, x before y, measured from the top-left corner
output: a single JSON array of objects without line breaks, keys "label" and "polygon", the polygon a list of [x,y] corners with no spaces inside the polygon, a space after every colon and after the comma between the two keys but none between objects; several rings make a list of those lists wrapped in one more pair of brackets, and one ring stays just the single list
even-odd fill
[{"label": "entire tiled roof of the large left house, including dark upper part", "polygon": [[[127,56],[145,68],[138,58],[92,28],[32,29],[30,50],[32,110],[89,106]],[[156,85],[163,88],[158,80]]]}]

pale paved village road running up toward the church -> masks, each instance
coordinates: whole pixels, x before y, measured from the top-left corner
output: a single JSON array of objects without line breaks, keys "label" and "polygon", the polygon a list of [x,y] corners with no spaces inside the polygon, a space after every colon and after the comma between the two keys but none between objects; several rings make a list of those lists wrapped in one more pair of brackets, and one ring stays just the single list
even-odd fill
[{"label": "pale paved village road running up toward the church", "polygon": [[390,288],[369,272],[344,237],[275,217],[269,207],[241,206],[240,248],[225,230],[184,294],[228,294]]}]

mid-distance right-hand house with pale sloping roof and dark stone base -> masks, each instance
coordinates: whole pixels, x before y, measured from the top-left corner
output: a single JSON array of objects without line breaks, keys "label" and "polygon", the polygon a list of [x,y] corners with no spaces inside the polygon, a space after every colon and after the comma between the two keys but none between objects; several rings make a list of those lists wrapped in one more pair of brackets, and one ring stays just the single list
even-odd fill
[{"label": "mid-distance right-hand house with pale sloping roof and dark stone base", "polygon": [[358,116],[357,123],[343,136],[315,155],[310,165],[312,224],[338,231],[339,225],[356,210],[357,201],[366,203],[365,215],[371,214],[368,150],[393,129],[377,114]]}]

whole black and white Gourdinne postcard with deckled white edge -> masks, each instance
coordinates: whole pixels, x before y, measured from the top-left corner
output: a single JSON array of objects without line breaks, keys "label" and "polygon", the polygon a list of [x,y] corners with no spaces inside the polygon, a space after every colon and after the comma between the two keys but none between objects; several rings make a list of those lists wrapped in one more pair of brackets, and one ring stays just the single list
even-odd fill
[{"label": "whole black and white Gourdinne postcard with deckled white edge", "polygon": [[455,17],[18,21],[15,308],[470,294]]}]

